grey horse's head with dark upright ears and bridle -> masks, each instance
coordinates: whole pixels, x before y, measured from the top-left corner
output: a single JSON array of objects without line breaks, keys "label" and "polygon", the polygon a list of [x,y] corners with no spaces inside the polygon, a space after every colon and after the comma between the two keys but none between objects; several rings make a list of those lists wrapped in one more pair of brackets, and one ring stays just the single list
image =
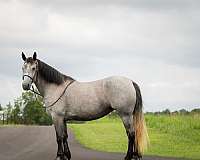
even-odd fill
[{"label": "grey horse's head with dark upright ears and bridle", "polygon": [[29,90],[31,88],[31,84],[36,81],[38,74],[38,62],[37,62],[37,54],[34,52],[33,57],[26,58],[25,54],[22,52],[22,59],[24,60],[24,64],[22,66],[23,71],[23,81],[22,87],[24,90]]}]

